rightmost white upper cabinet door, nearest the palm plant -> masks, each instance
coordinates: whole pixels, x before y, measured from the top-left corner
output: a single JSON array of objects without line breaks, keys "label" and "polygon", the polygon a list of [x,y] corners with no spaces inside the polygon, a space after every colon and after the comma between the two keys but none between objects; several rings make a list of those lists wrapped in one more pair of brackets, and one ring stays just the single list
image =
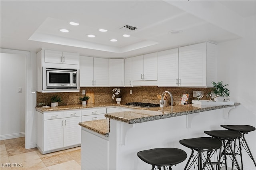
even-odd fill
[{"label": "rightmost white upper cabinet door, nearest the palm plant", "polygon": [[206,43],[179,48],[180,86],[206,86]]}]

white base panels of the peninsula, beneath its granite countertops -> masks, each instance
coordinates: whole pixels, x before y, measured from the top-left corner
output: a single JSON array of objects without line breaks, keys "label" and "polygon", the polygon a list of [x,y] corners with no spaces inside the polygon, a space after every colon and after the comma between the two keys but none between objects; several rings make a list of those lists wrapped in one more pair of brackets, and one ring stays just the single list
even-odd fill
[{"label": "white base panels of the peninsula, beneath its granite countertops", "polygon": [[[204,134],[205,130],[221,129],[220,125],[225,120],[222,117],[222,113],[222,109],[202,112],[192,120],[191,128],[186,128],[186,115],[135,124],[110,119],[108,137],[82,128],[82,169],[88,169],[84,167],[88,166],[89,162],[94,162],[93,165],[98,165],[101,161],[106,163],[106,159],[108,160],[108,168],[105,166],[105,169],[151,169],[151,165],[142,162],[136,156],[138,151],[150,148],[180,148],[190,154],[191,150],[179,144],[179,140],[205,137],[207,136]],[[102,142],[102,146],[106,148],[97,149],[98,144],[96,144],[96,141]],[[88,152],[89,150],[90,152]],[[93,155],[94,157],[92,157]],[[98,155],[105,155],[106,157],[100,160]],[[94,160],[91,160],[92,158]],[[213,161],[216,160],[217,158],[214,158]],[[87,165],[85,161],[88,162]],[[184,169],[186,161],[177,164],[175,169]],[[99,167],[90,167],[90,169],[99,169]]]}]

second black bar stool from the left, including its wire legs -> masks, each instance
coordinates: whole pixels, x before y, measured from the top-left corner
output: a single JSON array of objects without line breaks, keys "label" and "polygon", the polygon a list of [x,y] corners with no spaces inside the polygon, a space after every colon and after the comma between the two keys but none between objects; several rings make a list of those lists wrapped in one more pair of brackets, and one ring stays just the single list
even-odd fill
[{"label": "second black bar stool from the left, including its wire legs", "polygon": [[[212,170],[214,170],[213,163],[211,162],[210,158],[212,157],[212,155],[217,149],[221,148],[222,143],[220,142],[220,140],[218,140],[217,138],[210,138],[210,137],[190,138],[190,139],[180,140],[180,144],[192,150],[192,153],[188,159],[188,162],[184,170],[186,170],[187,168],[190,169],[193,165],[194,165],[194,168],[196,169],[195,164],[198,166],[198,170],[202,170],[206,168],[207,164],[210,164]],[[194,150],[198,152],[196,156],[194,156]],[[204,155],[204,152],[206,152],[207,156]],[[193,157],[193,160],[190,163],[190,160],[192,157]],[[205,161],[203,158],[205,159]],[[198,163],[196,162],[197,159],[198,159]],[[190,163],[190,166],[188,166],[189,163]]]}]

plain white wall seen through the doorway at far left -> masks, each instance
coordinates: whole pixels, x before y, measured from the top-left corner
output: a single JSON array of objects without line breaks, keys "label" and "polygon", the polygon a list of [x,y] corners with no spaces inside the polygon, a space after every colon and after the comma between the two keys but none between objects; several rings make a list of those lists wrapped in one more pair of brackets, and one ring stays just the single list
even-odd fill
[{"label": "plain white wall seen through the doorway at far left", "polygon": [[1,53],[0,60],[2,140],[25,136],[26,55]]}]

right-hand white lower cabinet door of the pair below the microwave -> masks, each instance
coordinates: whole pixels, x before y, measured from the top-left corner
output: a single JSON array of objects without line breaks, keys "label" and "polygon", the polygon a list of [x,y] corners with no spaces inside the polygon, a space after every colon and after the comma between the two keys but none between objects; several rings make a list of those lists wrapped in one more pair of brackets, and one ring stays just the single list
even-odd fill
[{"label": "right-hand white lower cabinet door of the pair below the microwave", "polygon": [[64,118],[64,147],[81,143],[81,117]]}]

